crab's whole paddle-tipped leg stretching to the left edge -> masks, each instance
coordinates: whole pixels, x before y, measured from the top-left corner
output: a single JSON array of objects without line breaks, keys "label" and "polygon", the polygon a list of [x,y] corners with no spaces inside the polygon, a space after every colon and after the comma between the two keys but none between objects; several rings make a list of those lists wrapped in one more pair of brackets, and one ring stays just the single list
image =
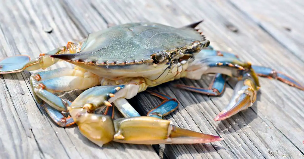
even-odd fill
[{"label": "crab's whole paddle-tipped leg stretching to the left edge", "polygon": [[50,55],[58,54],[74,54],[81,49],[82,42],[68,42],[66,46],[58,47],[45,54],[40,54],[39,57],[30,60],[29,56],[19,55],[7,57],[0,61],[0,74],[17,73],[23,70],[34,71],[42,68],[43,70],[60,61],[50,57]]}]

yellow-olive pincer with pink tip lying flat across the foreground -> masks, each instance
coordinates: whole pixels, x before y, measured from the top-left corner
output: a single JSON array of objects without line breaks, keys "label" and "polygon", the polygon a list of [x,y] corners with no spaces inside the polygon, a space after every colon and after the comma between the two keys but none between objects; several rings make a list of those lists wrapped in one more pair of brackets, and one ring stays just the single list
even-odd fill
[{"label": "yellow-olive pincer with pink tip lying flat across the foreground", "polygon": [[169,120],[149,116],[116,119],[114,127],[114,141],[121,143],[182,144],[223,140],[218,136],[176,127]]}]

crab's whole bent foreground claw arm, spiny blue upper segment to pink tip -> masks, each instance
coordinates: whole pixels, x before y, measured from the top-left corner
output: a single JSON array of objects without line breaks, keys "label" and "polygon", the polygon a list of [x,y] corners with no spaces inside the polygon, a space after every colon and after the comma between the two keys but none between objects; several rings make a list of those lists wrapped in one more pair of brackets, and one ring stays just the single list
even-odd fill
[{"label": "crab's whole bent foreground claw arm, spiny blue upper segment to pink tip", "polygon": [[[132,98],[137,85],[96,86],[79,95],[68,110],[80,132],[99,146],[110,141],[133,144],[208,143],[223,140],[218,136],[198,133],[172,125],[171,121],[150,116],[112,120],[94,114],[119,98]],[[135,93],[137,94],[137,92]]]}]

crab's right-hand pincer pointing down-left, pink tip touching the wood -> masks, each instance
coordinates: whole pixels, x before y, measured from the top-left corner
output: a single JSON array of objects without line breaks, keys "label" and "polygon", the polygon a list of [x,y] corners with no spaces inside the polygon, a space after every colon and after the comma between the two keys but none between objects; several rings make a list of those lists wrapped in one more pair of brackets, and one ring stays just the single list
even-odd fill
[{"label": "crab's right-hand pincer pointing down-left, pink tip touching the wood", "polygon": [[226,108],[217,115],[214,120],[220,121],[248,109],[257,99],[259,85],[256,84],[256,76],[246,73],[243,80],[238,81],[234,89],[233,97]]}]

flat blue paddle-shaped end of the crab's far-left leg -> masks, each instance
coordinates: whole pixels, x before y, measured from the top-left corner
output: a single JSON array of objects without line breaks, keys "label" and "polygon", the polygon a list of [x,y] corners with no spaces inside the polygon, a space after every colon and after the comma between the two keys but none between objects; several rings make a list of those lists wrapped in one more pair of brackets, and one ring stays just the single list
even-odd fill
[{"label": "flat blue paddle-shaped end of the crab's far-left leg", "polygon": [[0,74],[21,72],[29,60],[30,57],[26,55],[7,57],[0,61]]}]

